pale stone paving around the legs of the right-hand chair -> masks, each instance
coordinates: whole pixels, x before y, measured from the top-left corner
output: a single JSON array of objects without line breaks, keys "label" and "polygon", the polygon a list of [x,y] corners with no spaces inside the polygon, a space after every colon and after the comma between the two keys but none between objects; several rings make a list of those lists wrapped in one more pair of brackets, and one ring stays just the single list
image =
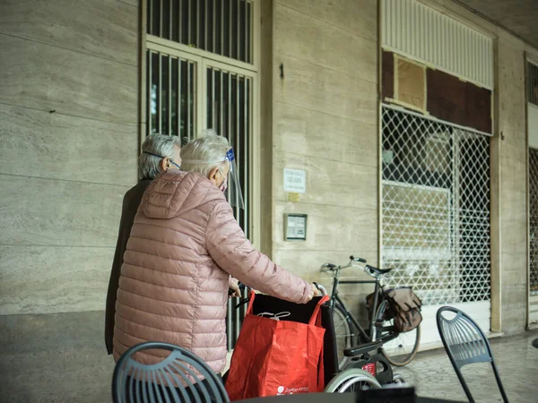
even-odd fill
[{"label": "pale stone paving around the legs of the right-hand chair", "polygon": [[[491,340],[493,356],[510,402],[538,402],[538,348],[531,343],[538,331]],[[411,364],[395,368],[417,394],[467,401],[444,349],[419,353]],[[502,401],[490,364],[470,364],[463,371],[477,402]]]}]

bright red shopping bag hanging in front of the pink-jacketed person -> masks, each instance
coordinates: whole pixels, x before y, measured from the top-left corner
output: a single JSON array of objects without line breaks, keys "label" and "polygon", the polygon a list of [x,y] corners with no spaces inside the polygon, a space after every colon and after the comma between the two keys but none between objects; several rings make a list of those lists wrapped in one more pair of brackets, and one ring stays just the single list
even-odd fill
[{"label": "bright red shopping bag hanging in front of the pink-jacketed person", "polygon": [[286,321],[282,315],[278,321],[256,316],[255,297],[252,292],[231,357],[226,380],[230,400],[323,391],[321,305],[328,296],[319,300],[308,323]]}]

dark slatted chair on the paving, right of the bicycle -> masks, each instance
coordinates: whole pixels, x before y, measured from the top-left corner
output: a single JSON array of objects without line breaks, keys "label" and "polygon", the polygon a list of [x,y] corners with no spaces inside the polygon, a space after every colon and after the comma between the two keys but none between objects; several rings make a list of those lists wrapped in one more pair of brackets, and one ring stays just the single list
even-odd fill
[{"label": "dark slatted chair on the paving, right of the bicycle", "polygon": [[[443,313],[456,313],[456,316],[452,319],[447,319]],[[461,372],[462,366],[474,363],[491,363],[502,399],[508,403],[507,394],[502,382],[500,382],[499,371],[493,359],[490,342],[473,319],[459,309],[452,306],[443,306],[438,310],[437,324],[448,358],[454,366],[467,399],[474,402],[473,395],[464,381],[464,376]]]}]

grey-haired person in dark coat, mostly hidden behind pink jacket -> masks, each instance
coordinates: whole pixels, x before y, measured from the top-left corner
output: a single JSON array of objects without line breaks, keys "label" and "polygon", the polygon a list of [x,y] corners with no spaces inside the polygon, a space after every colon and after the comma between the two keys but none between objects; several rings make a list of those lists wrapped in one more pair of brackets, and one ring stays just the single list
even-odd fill
[{"label": "grey-haired person in dark coat, mostly hidden behind pink jacket", "polygon": [[124,196],[123,209],[117,234],[116,253],[108,281],[107,307],[105,313],[105,344],[108,354],[112,354],[114,336],[114,317],[116,314],[116,294],[119,273],[126,252],[127,240],[133,227],[134,215],[143,193],[152,180],[169,169],[179,169],[181,163],[181,141],[177,136],[151,134],[142,144],[142,153],[138,157],[138,184],[129,189]]}]

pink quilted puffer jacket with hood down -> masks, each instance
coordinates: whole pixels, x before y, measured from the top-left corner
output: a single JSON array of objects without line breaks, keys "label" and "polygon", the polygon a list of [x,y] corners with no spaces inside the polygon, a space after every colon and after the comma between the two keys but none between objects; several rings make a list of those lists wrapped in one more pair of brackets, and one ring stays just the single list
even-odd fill
[{"label": "pink quilted puffer jacket with hood down", "polygon": [[[148,187],[134,218],[117,290],[114,358],[165,341],[226,364],[230,275],[265,294],[306,303],[309,284],[248,242],[223,193],[194,172],[169,170]],[[159,361],[139,354],[146,364]]]}]

